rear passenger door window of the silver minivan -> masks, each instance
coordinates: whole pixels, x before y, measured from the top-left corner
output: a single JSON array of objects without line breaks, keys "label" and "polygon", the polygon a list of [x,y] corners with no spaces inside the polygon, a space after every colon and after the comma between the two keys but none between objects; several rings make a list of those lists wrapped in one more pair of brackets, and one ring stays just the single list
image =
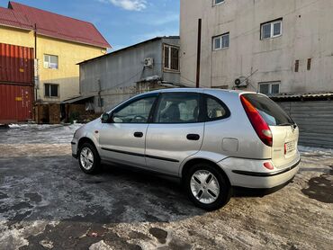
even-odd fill
[{"label": "rear passenger door window of the silver minivan", "polygon": [[199,121],[200,95],[196,93],[162,94],[157,104],[155,123],[193,123]]}]

